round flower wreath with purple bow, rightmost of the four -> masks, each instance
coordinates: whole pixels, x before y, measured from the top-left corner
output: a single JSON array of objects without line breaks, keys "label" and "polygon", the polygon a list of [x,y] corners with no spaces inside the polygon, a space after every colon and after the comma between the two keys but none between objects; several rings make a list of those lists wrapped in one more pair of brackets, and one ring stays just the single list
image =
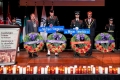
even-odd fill
[{"label": "round flower wreath with purple bow, rightmost of the four", "polygon": [[109,33],[100,33],[95,37],[95,47],[101,52],[111,52],[115,48],[115,40]]}]

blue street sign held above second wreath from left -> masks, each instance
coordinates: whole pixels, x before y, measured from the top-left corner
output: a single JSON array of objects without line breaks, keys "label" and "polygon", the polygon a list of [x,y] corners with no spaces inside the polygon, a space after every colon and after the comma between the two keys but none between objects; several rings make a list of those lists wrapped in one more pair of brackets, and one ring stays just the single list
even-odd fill
[{"label": "blue street sign held above second wreath from left", "polygon": [[56,31],[64,31],[64,26],[53,26],[53,27],[39,27],[39,32],[54,33]]}]

